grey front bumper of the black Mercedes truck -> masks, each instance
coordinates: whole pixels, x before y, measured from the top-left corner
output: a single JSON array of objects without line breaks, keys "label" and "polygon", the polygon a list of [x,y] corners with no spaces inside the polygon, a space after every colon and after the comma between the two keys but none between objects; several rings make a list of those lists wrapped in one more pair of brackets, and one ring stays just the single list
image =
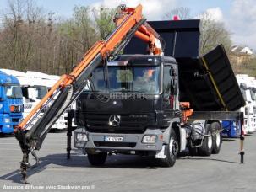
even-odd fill
[{"label": "grey front bumper of the black Mercedes truck", "polygon": [[[77,134],[84,133],[82,128],[74,131],[74,147],[85,149],[85,151],[94,152],[136,152],[161,151],[163,141],[163,133],[159,129],[147,129],[142,134],[121,134],[121,133],[92,133],[85,131],[88,141],[77,141]],[[154,144],[142,143],[143,137],[146,135],[155,135],[156,141]],[[105,141],[106,136],[123,137],[123,141],[113,142]]]}]

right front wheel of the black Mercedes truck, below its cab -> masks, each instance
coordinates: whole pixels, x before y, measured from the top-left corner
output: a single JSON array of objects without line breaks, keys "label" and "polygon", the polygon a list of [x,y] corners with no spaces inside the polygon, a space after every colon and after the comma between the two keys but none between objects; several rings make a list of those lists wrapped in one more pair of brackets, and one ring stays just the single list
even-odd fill
[{"label": "right front wheel of the black Mercedes truck, below its cab", "polygon": [[[166,158],[159,159],[159,164],[161,167],[172,167],[177,159],[177,152],[178,152],[178,141],[175,131],[171,130],[171,136],[169,145],[166,145],[165,147],[165,154]],[[172,146],[172,148],[171,148]]]}]

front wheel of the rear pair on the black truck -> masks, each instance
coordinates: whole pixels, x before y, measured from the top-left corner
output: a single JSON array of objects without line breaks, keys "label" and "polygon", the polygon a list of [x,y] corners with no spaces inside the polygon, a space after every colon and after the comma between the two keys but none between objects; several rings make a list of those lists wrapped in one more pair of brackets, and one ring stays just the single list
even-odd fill
[{"label": "front wheel of the rear pair on the black truck", "polygon": [[210,125],[206,125],[205,127],[205,135],[210,135],[204,136],[204,141],[201,147],[199,147],[199,155],[200,156],[210,156],[213,148],[213,137],[211,134],[211,127]]}]

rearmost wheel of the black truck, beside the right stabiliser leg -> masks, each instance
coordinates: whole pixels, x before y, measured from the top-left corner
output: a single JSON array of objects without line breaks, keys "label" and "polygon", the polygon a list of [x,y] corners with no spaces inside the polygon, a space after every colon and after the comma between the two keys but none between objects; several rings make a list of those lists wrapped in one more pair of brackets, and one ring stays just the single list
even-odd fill
[{"label": "rearmost wheel of the black truck, beside the right stabiliser leg", "polygon": [[221,151],[221,125],[218,122],[214,122],[211,124],[211,129],[215,130],[215,135],[213,136],[213,147],[212,147],[212,154],[218,154]]}]

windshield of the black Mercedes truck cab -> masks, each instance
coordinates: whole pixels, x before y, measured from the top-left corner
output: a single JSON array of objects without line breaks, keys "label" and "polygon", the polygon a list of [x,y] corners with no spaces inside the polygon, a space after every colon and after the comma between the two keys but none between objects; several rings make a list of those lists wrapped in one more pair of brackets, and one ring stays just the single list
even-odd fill
[{"label": "windshield of the black Mercedes truck cab", "polygon": [[[92,72],[93,91],[139,92],[157,94],[160,92],[160,67],[108,67],[107,81],[103,67]],[[91,85],[92,86],[92,85]]]}]

